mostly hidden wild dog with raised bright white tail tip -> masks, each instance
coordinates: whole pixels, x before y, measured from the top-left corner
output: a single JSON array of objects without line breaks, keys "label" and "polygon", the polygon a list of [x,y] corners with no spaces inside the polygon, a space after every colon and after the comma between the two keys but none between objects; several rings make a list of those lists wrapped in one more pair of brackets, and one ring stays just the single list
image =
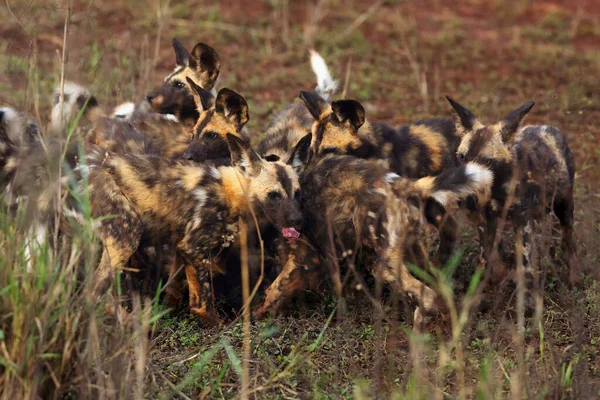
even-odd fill
[{"label": "mostly hidden wild dog with raised bright white tail tip", "polygon": [[[328,101],[337,89],[325,60],[310,50],[310,65],[317,77],[316,93]],[[304,105],[296,101],[275,116],[258,145],[258,153],[267,161],[289,158],[296,144],[310,132],[314,118]]]}]

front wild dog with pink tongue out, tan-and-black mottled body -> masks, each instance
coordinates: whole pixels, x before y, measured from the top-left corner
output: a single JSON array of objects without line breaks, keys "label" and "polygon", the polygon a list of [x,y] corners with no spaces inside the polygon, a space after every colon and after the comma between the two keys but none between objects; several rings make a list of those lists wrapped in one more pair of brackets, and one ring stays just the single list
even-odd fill
[{"label": "front wild dog with pink tongue out, tan-and-black mottled body", "polygon": [[104,252],[96,291],[126,263],[148,236],[176,248],[186,261],[190,308],[205,323],[217,321],[211,306],[212,274],[251,210],[295,238],[301,224],[291,162],[266,162],[242,139],[228,134],[231,166],[215,167],[149,155],[97,151],[89,157],[90,199],[102,222]]}]

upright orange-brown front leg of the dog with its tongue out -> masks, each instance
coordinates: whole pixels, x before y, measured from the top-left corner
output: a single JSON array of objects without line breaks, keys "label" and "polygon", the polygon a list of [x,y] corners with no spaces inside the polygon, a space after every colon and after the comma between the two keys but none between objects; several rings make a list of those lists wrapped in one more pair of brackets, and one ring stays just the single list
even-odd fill
[{"label": "upright orange-brown front leg of the dog with its tongue out", "polygon": [[190,292],[190,312],[197,315],[206,326],[215,326],[220,323],[212,305],[212,288],[208,267],[195,268],[185,266],[185,275]]}]

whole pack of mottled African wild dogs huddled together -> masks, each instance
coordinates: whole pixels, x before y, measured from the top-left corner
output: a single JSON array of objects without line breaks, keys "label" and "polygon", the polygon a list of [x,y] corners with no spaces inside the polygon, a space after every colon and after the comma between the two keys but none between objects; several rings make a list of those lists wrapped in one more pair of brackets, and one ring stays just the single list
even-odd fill
[{"label": "whole pack of mottled African wild dogs huddled together", "polygon": [[[529,307],[539,291],[531,243],[547,213],[558,217],[577,281],[573,155],[558,128],[522,125],[534,102],[486,124],[447,97],[451,116],[391,127],[368,120],[358,101],[335,100],[337,84],[311,50],[316,89],[300,91],[266,130],[249,132],[244,97],[215,90],[218,53],[203,43],[189,52],[176,39],[173,47],[177,66],[162,86],[111,115],[71,83],[55,92],[44,134],[31,117],[1,109],[1,190],[31,217],[29,268],[51,232],[68,240],[85,221],[87,193],[102,241],[93,296],[123,269],[157,268],[168,278],[165,301],[177,305],[189,291],[190,311],[207,325],[221,320],[214,279],[239,271],[241,260],[275,271],[253,311],[262,318],[325,277],[343,296],[343,275],[360,258],[362,270],[411,299],[418,329],[444,305],[407,264],[431,270],[449,260],[460,210],[475,217],[481,259],[498,279],[508,275],[496,251],[499,222],[512,224]],[[439,232],[431,263],[426,228]],[[364,284],[359,274],[355,282]]]}]

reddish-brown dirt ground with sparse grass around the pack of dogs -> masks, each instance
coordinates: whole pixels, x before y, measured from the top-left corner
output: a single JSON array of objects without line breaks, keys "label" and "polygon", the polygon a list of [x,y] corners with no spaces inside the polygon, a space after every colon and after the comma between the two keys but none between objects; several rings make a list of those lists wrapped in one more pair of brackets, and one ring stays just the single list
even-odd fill
[{"label": "reddish-brown dirt ground with sparse grass around the pack of dogs", "polygon": [[[556,125],[568,135],[577,164],[576,232],[586,276],[580,288],[566,286],[555,254],[559,235],[550,230],[540,263],[544,312],[537,326],[527,325],[522,345],[515,339],[510,285],[469,319],[458,338],[460,355],[441,346],[452,335],[443,324],[430,336],[414,338],[402,320],[376,323],[360,292],[349,289],[348,314],[332,320],[333,296],[307,295],[283,317],[253,323],[252,396],[371,398],[377,391],[381,398],[600,396],[600,2],[457,3],[73,4],[66,77],[89,85],[106,106],[141,99],[160,85],[174,66],[170,40],[177,37],[189,48],[203,41],[217,49],[220,86],[246,97],[257,140],[274,113],[299,90],[316,85],[309,47],[325,57],[343,94],[361,101],[371,120],[401,124],[447,116],[448,94],[492,122],[533,99],[527,122]],[[0,10],[2,105],[47,121],[61,69],[65,7],[19,0]],[[455,276],[459,296],[477,262],[476,235],[464,229]],[[147,398],[238,395],[241,332],[240,323],[203,329],[185,311],[163,319],[148,347]]]}]

